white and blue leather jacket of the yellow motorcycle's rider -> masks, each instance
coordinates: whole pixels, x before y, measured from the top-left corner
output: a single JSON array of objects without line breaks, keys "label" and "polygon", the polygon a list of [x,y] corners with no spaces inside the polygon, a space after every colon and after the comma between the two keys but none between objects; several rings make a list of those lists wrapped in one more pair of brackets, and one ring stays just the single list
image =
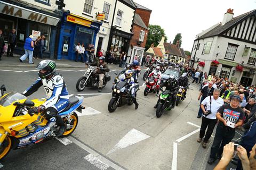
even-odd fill
[{"label": "white and blue leather jacket of the yellow motorcycle's rider", "polygon": [[60,99],[69,99],[66,84],[61,75],[55,74],[50,80],[38,78],[36,82],[25,90],[22,94],[30,96],[36,92],[39,87],[44,86],[47,100],[43,104],[45,108],[55,105]]}]

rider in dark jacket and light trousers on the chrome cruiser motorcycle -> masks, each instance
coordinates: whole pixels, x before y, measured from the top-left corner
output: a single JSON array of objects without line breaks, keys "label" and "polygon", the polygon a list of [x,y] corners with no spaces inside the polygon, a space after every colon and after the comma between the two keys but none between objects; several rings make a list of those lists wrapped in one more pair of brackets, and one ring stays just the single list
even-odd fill
[{"label": "rider in dark jacket and light trousers on the chrome cruiser motorcycle", "polygon": [[108,64],[105,62],[105,57],[99,57],[99,61],[98,62],[94,62],[94,63],[86,63],[86,64],[90,64],[92,66],[97,66],[97,70],[96,70],[96,74],[99,74],[99,92],[101,92],[102,86],[103,86],[103,79],[105,77],[105,73],[109,72],[108,69]]}]

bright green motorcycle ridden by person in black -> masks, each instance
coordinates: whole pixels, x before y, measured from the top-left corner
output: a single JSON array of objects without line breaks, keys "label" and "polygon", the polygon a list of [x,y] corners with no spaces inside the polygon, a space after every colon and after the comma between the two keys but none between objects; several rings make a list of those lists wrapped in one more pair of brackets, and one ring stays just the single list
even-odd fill
[{"label": "bright green motorcycle ridden by person in black", "polygon": [[156,117],[161,117],[164,111],[170,111],[172,109],[171,95],[173,94],[170,90],[163,90],[160,94],[159,104],[156,108]]}]

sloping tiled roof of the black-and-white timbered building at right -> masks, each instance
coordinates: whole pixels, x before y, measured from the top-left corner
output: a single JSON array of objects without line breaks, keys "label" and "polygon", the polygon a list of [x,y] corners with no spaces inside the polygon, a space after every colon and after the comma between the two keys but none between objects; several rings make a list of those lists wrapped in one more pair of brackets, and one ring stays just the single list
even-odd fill
[{"label": "sloping tiled roof of the black-and-white timbered building at right", "polygon": [[244,19],[246,16],[255,13],[256,14],[256,10],[252,10],[250,12],[246,12],[242,15],[236,16],[235,18],[231,19],[229,22],[227,22],[224,25],[221,25],[221,23],[213,28],[212,30],[206,32],[204,35],[202,35],[201,37],[199,37],[199,39],[202,38],[207,38],[207,37],[213,37],[213,36],[217,36],[219,35],[221,32],[225,31],[226,29],[230,28],[232,25],[236,24],[237,22],[241,21],[242,19]]}]

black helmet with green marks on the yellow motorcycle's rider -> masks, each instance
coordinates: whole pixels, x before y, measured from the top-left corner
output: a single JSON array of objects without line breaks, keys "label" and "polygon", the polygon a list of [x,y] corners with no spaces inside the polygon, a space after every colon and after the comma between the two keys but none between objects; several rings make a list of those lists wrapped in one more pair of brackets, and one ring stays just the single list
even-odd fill
[{"label": "black helmet with green marks on the yellow motorcycle's rider", "polygon": [[37,64],[36,69],[41,79],[50,79],[56,71],[56,64],[52,60],[43,60]]}]

